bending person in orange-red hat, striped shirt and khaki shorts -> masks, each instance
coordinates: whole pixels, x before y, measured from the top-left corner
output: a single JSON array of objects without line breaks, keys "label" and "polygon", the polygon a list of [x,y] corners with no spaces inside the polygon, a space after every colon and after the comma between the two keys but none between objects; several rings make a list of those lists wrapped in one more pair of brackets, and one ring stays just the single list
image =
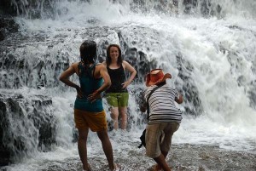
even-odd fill
[{"label": "bending person in orange-red hat, striped shirt and khaki shorts", "polygon": [[[166,156],[172,144],[172,134],[177,131],[182,120],[182,112],[175,105],[183,102],[183,96],[176,88],[166,84],[166,79],[172,78],[161,69],[154,69],[147,74],[146,86],[141,94],[140,109],[148,112],[146,128],[146,155],[157,164],[154,170],[170,171]],[[148,106],[147,106],[148,105]]]}]

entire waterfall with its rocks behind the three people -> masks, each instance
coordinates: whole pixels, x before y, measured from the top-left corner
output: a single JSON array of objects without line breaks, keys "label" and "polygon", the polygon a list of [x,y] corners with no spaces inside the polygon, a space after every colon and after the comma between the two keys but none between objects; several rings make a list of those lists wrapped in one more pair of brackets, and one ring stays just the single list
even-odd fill
[{"label": "entire waterfall with its rocks behind the three people", "polygon": [[[174,143],[255,149],[254,0],[11,0],[9,5],[18,29],[0,42],[1,165],[38,156],[77,157],[76,94],[58,77],[79,61],[85,39],[96,41],[98,62],[105,60],[108,44],[119,44],[137,70],[128,88],[129,134],[114,137],[117,151],[130,149],[125,143],[137,143],[145,127],[138,94],[154,68],[172,73],[167,83],[184,97]],[[96,140],[90,134],[89,144],[99,145]],[[93,147],[89,153],[102,155]]]}]

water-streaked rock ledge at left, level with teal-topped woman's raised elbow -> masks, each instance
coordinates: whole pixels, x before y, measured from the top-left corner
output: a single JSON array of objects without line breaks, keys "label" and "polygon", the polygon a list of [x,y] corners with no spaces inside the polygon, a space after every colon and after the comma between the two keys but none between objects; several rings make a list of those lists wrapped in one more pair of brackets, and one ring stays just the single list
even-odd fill
[{"label": "water-streaked rock ledge at left, level with teal-topped woman's raised elbow", "polygon": [[[1,88],[20,88],[24,85],[32,88],[53,87],[60,83],[60,72],[69,66],[67,54],[56,55],[56,60],[44,60],[49,58],[48,54],[38,55],[38,60],[31,64],[30,58],[7,53],[0,54],[0,68],[3,71],[0,73]],[[52,71],[50,76],[46,74],[49,71]]]}]

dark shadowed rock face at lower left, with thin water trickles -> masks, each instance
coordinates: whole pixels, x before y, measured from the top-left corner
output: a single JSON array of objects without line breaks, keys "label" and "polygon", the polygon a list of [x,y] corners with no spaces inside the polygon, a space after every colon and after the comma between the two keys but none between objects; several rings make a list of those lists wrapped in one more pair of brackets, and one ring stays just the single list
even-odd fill
[{"label": "dark shadowed rock face at lower left, with thin water trickles", "polygon": [[0,95],[0,166],[35,150],[50,150],[56,125],[51,105],[44,95],[31,100],[22,94]]}]

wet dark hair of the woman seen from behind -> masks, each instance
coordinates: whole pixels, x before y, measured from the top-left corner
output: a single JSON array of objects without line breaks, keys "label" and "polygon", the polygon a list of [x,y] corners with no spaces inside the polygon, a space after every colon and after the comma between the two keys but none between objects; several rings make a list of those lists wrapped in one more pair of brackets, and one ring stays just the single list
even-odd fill
[{"label": "wet dark hair of the woman seen from behind", "polygon": [[96,60],[96,42],[85,40],[80,46],[80,56],[84,64],[94,63]]}]

